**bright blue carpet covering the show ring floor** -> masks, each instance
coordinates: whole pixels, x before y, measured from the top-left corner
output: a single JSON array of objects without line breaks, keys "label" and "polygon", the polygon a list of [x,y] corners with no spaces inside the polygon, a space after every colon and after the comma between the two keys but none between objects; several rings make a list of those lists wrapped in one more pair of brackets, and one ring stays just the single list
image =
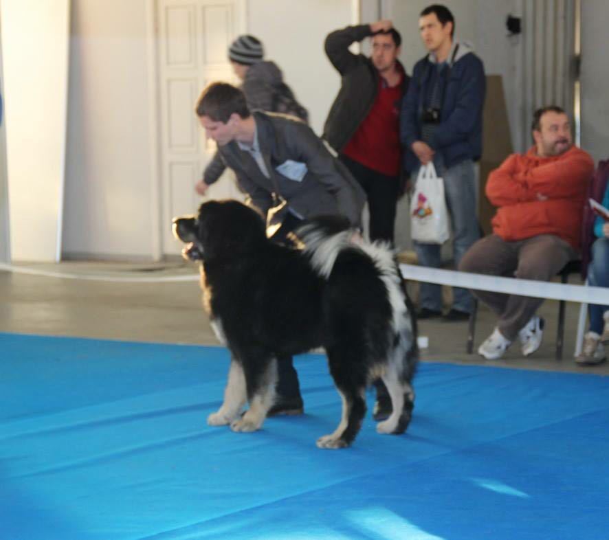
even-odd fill
[{"label": "bright blue carpet covering the show ring floor", "polygon": [[[307,414],[208,427],[222,348],[0,334],[0,539],[604,539],[609,378],[423,363],[404,436],[296,359]],[[369,405],[373,395],[368,396]]]}]

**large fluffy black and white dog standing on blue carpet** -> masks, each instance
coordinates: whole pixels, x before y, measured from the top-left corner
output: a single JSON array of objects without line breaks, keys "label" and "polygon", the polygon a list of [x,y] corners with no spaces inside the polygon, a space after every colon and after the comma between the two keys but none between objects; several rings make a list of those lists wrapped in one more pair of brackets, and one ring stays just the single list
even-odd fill
[{"label": "large fluffy black and white dog standing on blue carpet", "polygon": [[[276,359],[323,347],[342,398],[342,419],[320,448],[351,445],[366,413],[365,392],[382,379],[392,402],[381,434],[406,431],[417,366],[417,330],[392,252],[353,240],[340,218],[298,229],[300,249],[267,239],[256,210],[238,201],[203,203],[176,218],[184,256],[201,261],[203,305],[232,361],[224,402],[210,425],[255,431],[273,405]],[[249,401],[250,408],[241,414]]]}]

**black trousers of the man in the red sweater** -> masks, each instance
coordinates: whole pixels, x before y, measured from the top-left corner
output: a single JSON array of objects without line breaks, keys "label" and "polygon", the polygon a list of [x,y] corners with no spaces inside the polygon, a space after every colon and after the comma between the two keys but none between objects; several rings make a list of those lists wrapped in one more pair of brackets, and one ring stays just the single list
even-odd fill
[{"label": "black trousers of the man in the red sweater", "polygon": [[366,192],[370,240],[386,240],[393,245],[399,178],[384,175],[343,154],[339,159]]}]

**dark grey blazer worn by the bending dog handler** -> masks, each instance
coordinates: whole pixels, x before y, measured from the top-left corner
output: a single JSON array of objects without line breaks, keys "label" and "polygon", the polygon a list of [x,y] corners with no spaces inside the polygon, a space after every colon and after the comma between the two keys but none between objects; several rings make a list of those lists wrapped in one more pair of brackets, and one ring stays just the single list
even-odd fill
[{"label": "dark grey blazer worn by the bending dog handler", "polygon": [[[289,207],[303,218],[341,214],[359,227],[366,194],[313,130],[284,115],[261,111],[254,111],[253,115],[258,144],[272,178],[265,177],[254,158],[235,141],[219,147],[222,159],[234,170],[250,202],[266,216],[275,204],[272,194],[278,190]],[[305,164],[304,177],[291,179],[289,172],[280,172],[285,170],[286,161]]]}]

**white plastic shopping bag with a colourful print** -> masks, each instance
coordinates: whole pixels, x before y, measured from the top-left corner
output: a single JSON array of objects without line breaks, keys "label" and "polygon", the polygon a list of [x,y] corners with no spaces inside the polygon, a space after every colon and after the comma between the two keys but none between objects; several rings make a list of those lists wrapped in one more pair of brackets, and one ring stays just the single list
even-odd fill
[{"label": "white plastic shopping bag with a colourful print", "polygon": [[450,236],[444,181],[430,161],[421,165],[410,200],[410,234],[423,244],[443,244]]}]

